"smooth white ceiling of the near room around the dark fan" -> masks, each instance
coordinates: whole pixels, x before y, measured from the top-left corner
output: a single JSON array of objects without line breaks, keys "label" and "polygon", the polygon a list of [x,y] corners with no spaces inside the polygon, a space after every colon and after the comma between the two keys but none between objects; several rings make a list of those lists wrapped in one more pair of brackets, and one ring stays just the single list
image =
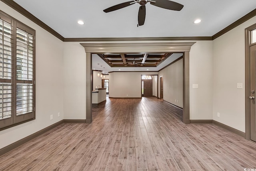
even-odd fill
[{"label": "smooth white ceiling of the near room around the dark fan", "polygon": [[[184,8],[172,11],[147,3],[145,24],[137,27],[138,3],[103,12],[129,0],[14,1],[65,38],[212,36],[256,7],[256,0],[173,0]],[[193,24],[197,18],[202,22]]]}]

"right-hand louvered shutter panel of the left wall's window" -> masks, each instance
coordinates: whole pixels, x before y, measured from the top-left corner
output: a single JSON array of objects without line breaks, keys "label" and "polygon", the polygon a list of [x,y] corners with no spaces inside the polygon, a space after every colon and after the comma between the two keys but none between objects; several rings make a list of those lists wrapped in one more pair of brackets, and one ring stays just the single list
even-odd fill
[{"label": "right-hand louvered shutter panel of the left wall's window", "polygon": [[34,118],[34,39],[33,31],[16,27],[16,119]]}]

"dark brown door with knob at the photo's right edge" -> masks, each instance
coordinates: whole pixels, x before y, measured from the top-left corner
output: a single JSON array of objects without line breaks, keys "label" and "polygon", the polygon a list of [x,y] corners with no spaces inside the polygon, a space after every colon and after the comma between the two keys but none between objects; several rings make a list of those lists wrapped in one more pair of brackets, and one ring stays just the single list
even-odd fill
[{"label": "dark brown door with knob at the photo's right edge", "polygon": [[250,125],[251,125],[251,140],[256,142],[256,45],[250,47]]}]

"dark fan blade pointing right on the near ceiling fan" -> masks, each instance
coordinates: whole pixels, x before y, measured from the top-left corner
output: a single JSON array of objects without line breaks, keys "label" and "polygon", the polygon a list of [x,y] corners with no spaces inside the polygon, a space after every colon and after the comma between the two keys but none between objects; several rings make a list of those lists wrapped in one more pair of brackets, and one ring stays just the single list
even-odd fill
[{"label": "dark fan blade pointing right on the near ceiling fan", "polygon": [[154,6],[158,6],[160,8],[165,8],[167,10],[175,10],[180,11],[184,6],[177,2],[173,2],[170,0],[155,0],[156,2],[150,2],[150,4]]}]

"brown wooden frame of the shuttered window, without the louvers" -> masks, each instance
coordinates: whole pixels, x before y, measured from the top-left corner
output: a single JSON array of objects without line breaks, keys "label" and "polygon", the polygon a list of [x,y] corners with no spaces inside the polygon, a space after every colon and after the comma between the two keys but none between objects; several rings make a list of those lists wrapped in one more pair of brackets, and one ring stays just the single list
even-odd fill
[{"label": "brown wooden frame of the shuttered window, without the louvers", "polygon": [[[11,86],[12,86],[12,101],[11,101],[11,110],[12,114],[10,118],[2,118],[0,119],[0,131],[5,130],[7,128],[11,128],[13,126],[17,126],[19,124],[23,124],[25,122],[29,122],[31,120],[36,119],[36,31],[26,24],[23,24],[22,22],[16,20],[15,18],[12,18],[8,14],[2,12],[0,10],[0,19],[4,20],[5,22],[8,22],[11,24],[12,30],[11,30],[11,66],[12,66],[12,75],[11,75]],[[32,35],[32,80],[18,80],[17,78],[17,28]],[[4,36],[3,36],[4,37]],[[28,42],[27,42],[28,43]],[[29,47],[29,45],[28,45]],[[27,47],[27,49],[28,49]],[[4,45],[2,46],[4,50]],[[31,50],[31,49],[30,49]],[[3,51],[4,53],[4,51]],[[3,56],[4,59],[4,56]],[[28,61],[28,56],[27,56]],[[28,63],[28,62],[27,62]],[[28,65],[28,64],[27,64]],[[26,70],[23,70],[26,71]],[[28,72],[28,66],[27,66],[27,72]],[[0,84],[3,84],[4,82],[10,82],[7,79],[0,79]],[[32,86],[32,112],[27,112],[25,114],[17,115],[17,84],[29,84]],[[28,92],[26,92],[29,94]],[[27,95],[28,96],[28,95]],[[1,98],[2,99],[2,98]],[[28,98],[26,98],[26,105],[29,105],[30,101]]]}]

